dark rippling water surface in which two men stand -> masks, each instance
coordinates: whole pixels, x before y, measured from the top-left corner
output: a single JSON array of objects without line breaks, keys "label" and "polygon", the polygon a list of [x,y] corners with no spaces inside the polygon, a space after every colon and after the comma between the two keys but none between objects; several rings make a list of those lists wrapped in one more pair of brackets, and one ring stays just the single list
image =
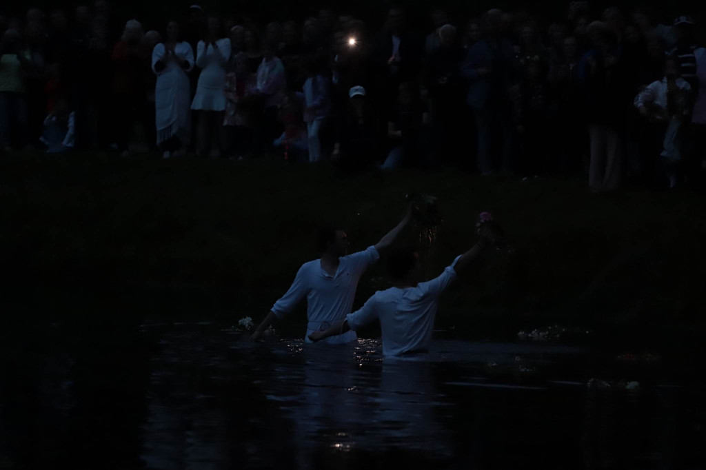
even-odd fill
[{"label": "dark rippling water surface in which two men stand", "polygon": [[706,468],[706,390],[668,364],[450,340],[383,360],[376,339],[253,344],[198,322],[40,330],[2,349],[0,469]]}]

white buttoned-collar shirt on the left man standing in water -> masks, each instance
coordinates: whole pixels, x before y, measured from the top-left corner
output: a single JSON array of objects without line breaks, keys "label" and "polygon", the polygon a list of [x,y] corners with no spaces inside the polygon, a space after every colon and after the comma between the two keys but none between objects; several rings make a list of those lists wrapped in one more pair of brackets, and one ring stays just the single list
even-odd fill
[{"label": "white buttoned-collar shirt on the left man standing in water", "polygon": [[[294,277],[292,287],[287,294],[275,302],[272,312],[277,318],[291,312],[297,303],[306,296],[306,317],[309,325],[306,327],[306,342],[309,335],[318,330],[327,330],[333,323],[342,320],[353,307],[358,281],[368,268],[380,258],[374,246],[364,251],[338,258],[338,269],[331,276],[321,267],[321,260],[304,263]],[[343,344],[357,339],[354,331],[345,335],[329,337],[325,342]]]}]

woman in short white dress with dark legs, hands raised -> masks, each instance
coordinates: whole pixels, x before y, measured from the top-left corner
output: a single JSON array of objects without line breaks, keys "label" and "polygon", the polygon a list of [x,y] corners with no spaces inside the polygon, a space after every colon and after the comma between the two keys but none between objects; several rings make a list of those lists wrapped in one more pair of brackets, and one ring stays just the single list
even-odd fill
[{"label": "woman in short white dress with dark legs, hands raised", "polygon": [[[230,59],[230,40],[217,39],[221,32],[220,18],[208,18],[208,35],[196,47],[196,65],[201,68],[196,96],[191,109],[198,111],[198,153],[206,155],[212,135],[217,135],[217,148],[224,148],[225,74]],[[214,155],[220,155],[214,152]]]}]

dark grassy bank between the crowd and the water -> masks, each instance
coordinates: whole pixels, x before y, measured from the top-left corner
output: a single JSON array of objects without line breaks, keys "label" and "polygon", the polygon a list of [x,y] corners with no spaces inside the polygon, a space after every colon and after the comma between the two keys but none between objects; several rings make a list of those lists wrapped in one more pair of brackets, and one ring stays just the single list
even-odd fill
[{"label": "dark grassy bank between the crowd and the water", "polygon": [[[553,323],[626,338],[704,330],[702,194],[597,196],[584,181],[452,169],[343,177],[263,162],[10,157],[0,162],[6,287],[159,292],[173,304],[155,302],[165,315],[198,306],[208,318],[259,318],[316,257],[316,225],[342,224],[352,248],[365,248],[402,216],[412,189],[438,196],[445,215],[430,274],[473,243],[481,210],[516,248],[450,291],[441,329],[474,338]],[[366,274],[357,303],[385,287],[383,276],[382,266]]]}]

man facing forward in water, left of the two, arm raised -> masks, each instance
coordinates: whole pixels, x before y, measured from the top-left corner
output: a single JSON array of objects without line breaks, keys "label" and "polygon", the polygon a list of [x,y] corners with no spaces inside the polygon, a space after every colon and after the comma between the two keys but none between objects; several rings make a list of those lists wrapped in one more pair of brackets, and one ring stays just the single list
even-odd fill
[{"label": "man facing forward in water, left of the two, arm raised", "polygon": [[[345,318],[353,306],[358,281],[365,270],[376,263],[380,253],[387,250],[412,219],[412,206],[407,215],[397,227],[378,241],[375,246],[369,246],[364,251],[347,255],[349,242],[345,231],[340,229],[324,229],[319,236],[321,259],[304,263],[294,277],[292,287],[268,313],[258,326],[251,339],[260,339],[263,332],[277,319],[291,312],[297,303],[306,297],[306,316],[309,324],[306,327],[306,342],[309,335],[318,330],[326,330],[334,323]],[[357,339],[355,332],[348,332],[330,338],[327,343],[344,344]]]}]

